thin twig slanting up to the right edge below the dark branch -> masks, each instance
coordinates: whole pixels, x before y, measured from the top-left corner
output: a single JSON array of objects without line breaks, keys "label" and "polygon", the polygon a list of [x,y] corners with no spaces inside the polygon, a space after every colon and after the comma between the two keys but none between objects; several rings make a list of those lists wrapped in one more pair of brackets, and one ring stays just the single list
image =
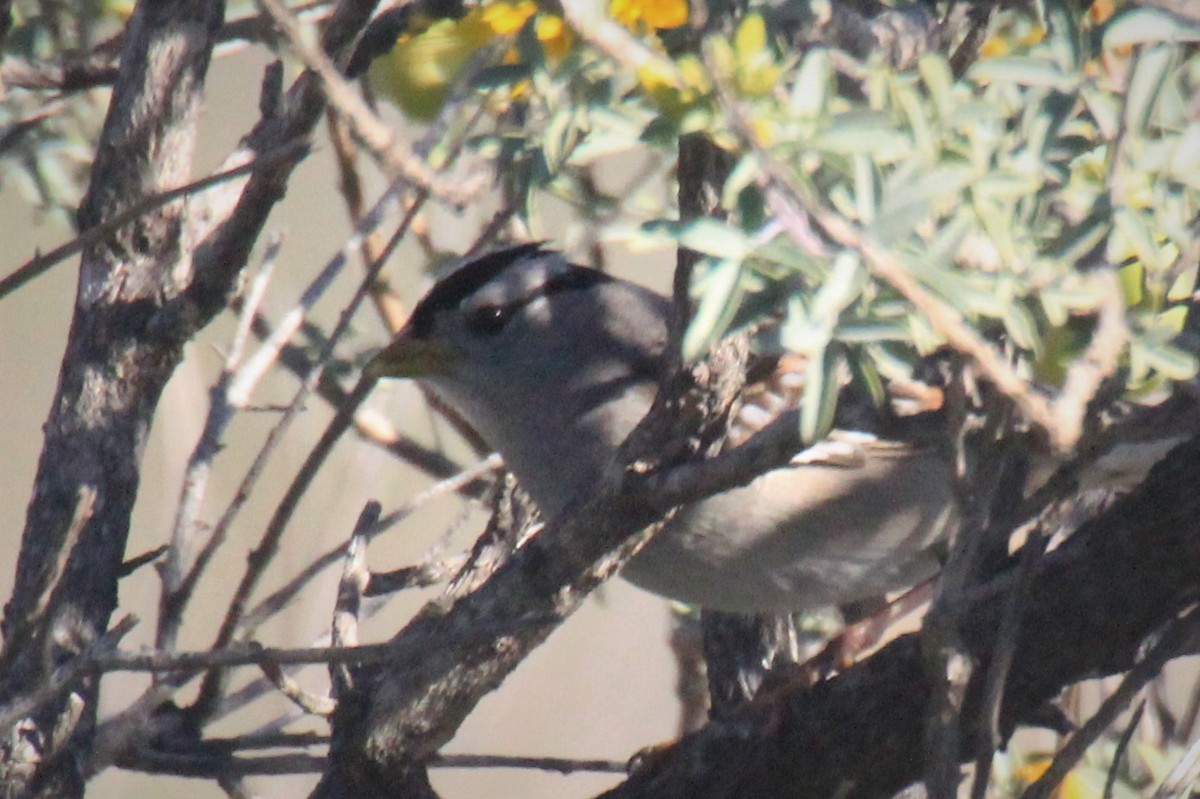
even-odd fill
[{"label": "thin twig slanting up to the right edge below the dark branch", "polygon": [[1062,749],[1054,756],[1054,761],[1050,762],[1050,767],[1033,785],[1025,789],[1021,799],[1049,799],[1054,789],[1062,782],[1062,779],[1084,757],[1087,747],[1104,734],[1104,731],[1129,707],[1129,703],[1133,702],[1134,697],[1138,696],[1146,684],[1158,677],[1163,666],[1172,657],[1177,657],[1180,654],[1190,651],[1194,648],[1198,632],[1200,632],[1196,625],[1196,607],[1192,606],[1170,623],[1158,642],[1124,675],[1117,690],[1063,744]]}]

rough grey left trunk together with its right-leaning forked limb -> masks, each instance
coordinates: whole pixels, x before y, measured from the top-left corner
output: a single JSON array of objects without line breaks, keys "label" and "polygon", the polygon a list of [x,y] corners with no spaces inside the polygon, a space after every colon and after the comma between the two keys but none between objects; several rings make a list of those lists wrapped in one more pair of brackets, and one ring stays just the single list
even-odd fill
[{"label": "rough grey left trunk together with its right-leaning forked limb", "polygon": [[[346,0],[324,43],[344,58],[374,2]],[[186,184],[222,0],[143,0],[125,35],[79,227]],[[308,76],[264,118],[233,161],[247,179],[180,199],[84,250],[76,310],[5,607],[0,708],[36,695],[50,672],[108,626],[137,498],[142,449],[182,346],[226,307],[323,97]],[[0,731],[0,795],[80,795],[96,681],[42,702]]]}]

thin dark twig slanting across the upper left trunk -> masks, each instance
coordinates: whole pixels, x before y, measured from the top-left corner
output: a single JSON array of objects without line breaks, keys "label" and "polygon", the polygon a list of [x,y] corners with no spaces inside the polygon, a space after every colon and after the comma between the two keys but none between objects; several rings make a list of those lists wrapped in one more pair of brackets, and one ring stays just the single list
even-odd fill
[{"label": "thin dark twig slanting across the upper left trunk", "polygon": [[178,200],[182,197],[190,197],[203,192],[212,186],[227,182],[235,178],[247,175],[256,169],[262,169],[271,164],[278,163],[281,161],[288,161],[292,158],[299,158],[308,149],[305,142],[293,142],[290,144],[280,146],[276,150],[264,152],[259,155],[253,161],[233,167],[232,169],[224,169],[216,174],[209,175],[208,178],[200,178],[199,180],[193,180],[190,184],[180,186],[179,188],[172,188],[164,192],[158,192],[156,194],[150,194],[133,205],[131,205],[125,211],[116,214],[104,222],[88,228],[79,235],[77,235],[71,241],[60,245],[46,253],[44,256],[36,256],[30,260],[25,262],[16,269],[16,271],[10,272],[4,278],[0,278],[0,300],[2,300],[8,294],[12,294],[22,286],[34,280],[35,277],[48,271],[55,264],[59,264],[71,256],[80,252],[84,247],[91,246],[109,235],[115,230],[130,224],[131,222],[138,220],[151,211],[155,211],[168,203]]}]

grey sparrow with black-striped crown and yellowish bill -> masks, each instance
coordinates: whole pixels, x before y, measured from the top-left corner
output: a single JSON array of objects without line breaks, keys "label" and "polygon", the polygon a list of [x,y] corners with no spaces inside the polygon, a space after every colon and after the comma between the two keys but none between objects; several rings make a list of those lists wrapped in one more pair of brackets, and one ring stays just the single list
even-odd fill
[{"label": "grey sparrow with black-striped crown and yellowish bill", "polygon": [[[668,311],[653,292],[520,245],[438,282],[367,372],[428,386],[552,517],[649,409]],[[931,575],[930,547],[954,517],[943,458],[854,435],[827,451],[851,457],[816,449],[682,509],[623,575],[737,612],[841,605]]]}]

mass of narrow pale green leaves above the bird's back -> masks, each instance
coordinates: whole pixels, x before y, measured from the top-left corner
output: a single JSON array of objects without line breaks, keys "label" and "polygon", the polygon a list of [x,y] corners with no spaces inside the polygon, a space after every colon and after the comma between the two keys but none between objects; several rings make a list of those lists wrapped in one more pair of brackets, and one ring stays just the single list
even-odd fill
[{"label": "mass of narrow pale green leaves above the bird's back", "polygon": [[[582,224],[605,224],[601,236],[704,253],[689,354],[774,313],[761,344],[823,364],[810,371],[816,396],[847,361],[868,380],[900,376],[942,343],[858,251],[785,235],[767,211],[770,179],[851,221],[982,335],[1004,335],[1019,373],[1050,390],[1091,340],[1097,274],[1117,270],[1129,330],[1120,377],[1146,392],[1196,368],[1177,336],[1195,283],[1183,253],[1200,212],[1200,28],[1128,4],[1076,6],[998,12],[961,77],[938,54],[896,70],[793,48],[794,10],[770,4],[750,2],[732,35],[680,47],[655,30],[677,19],[661,0],[619,0],[611,13],[661,59],[648,65],[587,36],[551,56],[538,12],[503,64],[475,76],[502,100],[494,133],[476,143],[535,235],[548,233],[535,212],[548,190]],[[738,160],[722,194],[730,223],[680,226],[670,206],[606,197],[589,180],[599,157],[670,160],[696,131]],[[808,434],[828,410],[810,414]]]}]

